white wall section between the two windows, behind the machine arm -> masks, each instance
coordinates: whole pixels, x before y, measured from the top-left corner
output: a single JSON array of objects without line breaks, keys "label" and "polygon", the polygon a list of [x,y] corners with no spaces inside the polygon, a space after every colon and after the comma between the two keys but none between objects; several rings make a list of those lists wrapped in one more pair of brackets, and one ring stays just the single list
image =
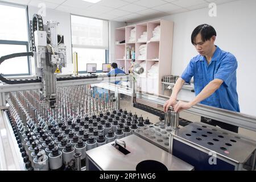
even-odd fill
[{"label": "white wall section between the two windows, behind the machine arm", "polygon": [[[38,11],[39,11],[38,7],[28,6],[29,19],[31,20],[34,14],[38,14],[39,13]],[[72,64],[70,14],[65,13],[63,11],[46,9],[46,16],[45,17],[43,16],[44,24],[49,20],[59,22],[58,34],[64,35],[64,44],[66,46],[66,51],[67,51],[67,67],[63,68],[63,73],[71,74],[73,73],[73,64]]]}]

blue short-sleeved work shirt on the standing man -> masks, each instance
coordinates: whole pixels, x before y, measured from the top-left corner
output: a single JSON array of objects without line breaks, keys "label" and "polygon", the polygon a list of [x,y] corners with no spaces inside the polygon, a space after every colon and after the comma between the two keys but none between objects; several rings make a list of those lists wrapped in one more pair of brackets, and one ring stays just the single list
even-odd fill
[{"label": "blue short-sleeved work shirt on the standing man", "polygon": [[240,112],[236,69],[236,57],[216,46],[209,65],[205,56],[197,55],[191,59],[181,78],[185,82],[190,82],[194,77],[196,96],[210,81],[216,78],[224,81],[220,88],[200,104]]}]

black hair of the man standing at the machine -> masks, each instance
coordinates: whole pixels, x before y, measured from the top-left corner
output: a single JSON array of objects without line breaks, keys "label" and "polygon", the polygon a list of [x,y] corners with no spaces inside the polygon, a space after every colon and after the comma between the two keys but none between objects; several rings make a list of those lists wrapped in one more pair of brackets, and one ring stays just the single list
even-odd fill
[{"label": "black hair of the man standing at the machine", "polygon": [[198,34],[201,34],[203,42],[210,40],[212,36],[216,36],[215,29],[210,26],[209,24],[200,24],[200,26],[197,26],[195,30],[193,30],[191,34],[191,43],[195,46],[195,39]]}]

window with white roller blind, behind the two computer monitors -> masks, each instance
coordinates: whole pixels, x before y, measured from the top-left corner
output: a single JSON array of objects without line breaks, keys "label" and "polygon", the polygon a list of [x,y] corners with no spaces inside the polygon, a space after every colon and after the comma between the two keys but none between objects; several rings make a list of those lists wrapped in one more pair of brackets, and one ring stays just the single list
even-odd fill
[{"label": "window with white roller blind, behind the two computer monitors", "polygon": [[71,15],[72,52],[77,52],[79,73],[86,72],[87,63],[108,63],[108,21]]}]

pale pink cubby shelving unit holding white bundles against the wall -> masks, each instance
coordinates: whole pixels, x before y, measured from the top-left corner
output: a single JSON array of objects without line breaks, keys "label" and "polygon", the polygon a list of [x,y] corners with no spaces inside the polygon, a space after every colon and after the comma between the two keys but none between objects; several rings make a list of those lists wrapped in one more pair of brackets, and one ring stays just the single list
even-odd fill
[{"label": "pale pink cubby shelving unit holding white bundles against the wall", "polygon": [[[151,40],[154,36],[154,29],[160,26],[159,39]],[[135,40],[129,42],[131,30],[135,28]],[[135,62],[141,64],[146,63],[146,74],[138,79],[138,86],[142,92],[151,94],[161,94],[162,84],[161,78],[164,75],[171,75],[171,59],[172,59],[172,37],[173,37],[174,23],[158,19],[149,22],[132,24],[126,27],[117,28],[115,30],[115,62],[118,67],[124,67],[125,72],[129,73],[131,65],[131,57],[127,59],[126,47],[133,47],[135,50]],[[143,32],[146,32],[146,34]],[[139,40],[141,35],[146,39]],[[119,43],[124,42],[125,43]],[[146,44],[146,56],[144,59],[138,59],[140,52],[139,47]],[[148,73],[152,65],[158,63],[156,73]]]}]

